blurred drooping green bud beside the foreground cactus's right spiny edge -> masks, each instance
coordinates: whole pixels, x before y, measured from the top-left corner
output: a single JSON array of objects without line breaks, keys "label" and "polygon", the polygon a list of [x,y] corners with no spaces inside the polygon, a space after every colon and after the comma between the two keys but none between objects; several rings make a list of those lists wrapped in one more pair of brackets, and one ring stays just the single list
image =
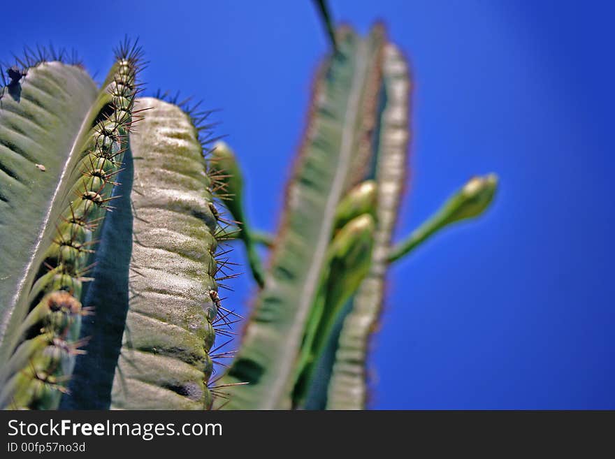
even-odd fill
[{"label": "blurred drooping green bud beside the foreground cactus's right spiny edge", "polygon": [[[240,227],[237,238],[243,241],[252,276],[262,287],[265,284],[263,266],[258,252],[256,252],[256,240],[252,236],[252,230],[247,221],[247,216],[243,210],[243,175],[235,157],[235,153],[229,145],[224,142],[217,142],[212,151],[212,168],[218,175],[219,181],[224,183],[225,189],[221,191],[221,196],[226,195],[224,204],[229,209],[236,224]],[[270,242],[273,244],[273,242]]]}]

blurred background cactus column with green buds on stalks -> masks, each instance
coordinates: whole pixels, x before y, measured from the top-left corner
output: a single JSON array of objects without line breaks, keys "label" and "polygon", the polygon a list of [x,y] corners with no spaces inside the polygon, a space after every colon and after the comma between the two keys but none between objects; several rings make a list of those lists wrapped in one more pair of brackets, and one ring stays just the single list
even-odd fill
[{"label": "blurred background cactus column with green buds on stalks", "polygon": [[[252,235],[242,238],[248,252],[256,242],[272,252],[222,379],[248,384],[229,391],[221,407],[365,408],[366,355],[382,310],[386,268],[440,229],[477,217],[495,193],[495,175],[470,180],[407,240],[392,245],[410,141],[407,64],[380,24],[366,38],[341,27],[335,43],[314,81],[277,234],[240,225]],[[229,147],[219,148],[227,163],[235,161],[229,170],[239,170]],[[227,184],[231,194],[243,194],[240,182]],[[229,210],[239,221],[246,214],[240,201],[229,203]],[[348,226],[356,221],[370,227],[365,242],[351,238]],[[359,252],[331,256],[340,237]],[[254,273],[258,284],[261,276]]]}]

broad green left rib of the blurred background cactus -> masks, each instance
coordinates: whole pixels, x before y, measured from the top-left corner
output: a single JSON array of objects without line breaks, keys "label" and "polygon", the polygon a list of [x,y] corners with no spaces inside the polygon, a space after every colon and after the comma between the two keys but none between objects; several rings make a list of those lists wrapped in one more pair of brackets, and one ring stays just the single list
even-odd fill
[{"label": "broad green left rib of the blurred background cactus", "polygon": [[345,28],[339,53],[317,75],[305,140],[287,187],[265,286],[226,384],[231,409],[284,409],[305,324],[321,282],[336,207],[366,166],[382,29],[367,39]]}]

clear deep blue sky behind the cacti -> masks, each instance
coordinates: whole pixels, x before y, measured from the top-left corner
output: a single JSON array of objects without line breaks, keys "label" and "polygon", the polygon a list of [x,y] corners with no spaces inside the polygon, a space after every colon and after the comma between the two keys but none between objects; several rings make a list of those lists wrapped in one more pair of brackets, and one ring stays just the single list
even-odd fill
[{"label": "clear deep blue sky behind the cacti", "polygon": [[[382,18],[412,60],[412,180],[398,238],[471,175],[489,214],[394,266],[370,358],[380,409],[615,409],[615,43],[608,1],[332,0]],[[0,59],[75,48],[101,78],[124,34],[144,80],[222,108],[249,216],[276,226],[312,71],[326,41],[310,1],[27,1]],[[241,257],[240,251],[236,256]],[[236,281],[243,308],[252,285]]]}]

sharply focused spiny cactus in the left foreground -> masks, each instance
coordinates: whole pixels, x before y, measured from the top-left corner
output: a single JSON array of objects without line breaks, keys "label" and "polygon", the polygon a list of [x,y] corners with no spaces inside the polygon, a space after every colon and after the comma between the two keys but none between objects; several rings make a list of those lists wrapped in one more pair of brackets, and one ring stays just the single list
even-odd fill
[{"label": "sharply focused spiny cactus in the left foreground", "polygon": [[137,100],[142,52],[115,54],[100,89],[43,55],[3,88],[2,408],[212,403],[229,312],[207,113]]}]

